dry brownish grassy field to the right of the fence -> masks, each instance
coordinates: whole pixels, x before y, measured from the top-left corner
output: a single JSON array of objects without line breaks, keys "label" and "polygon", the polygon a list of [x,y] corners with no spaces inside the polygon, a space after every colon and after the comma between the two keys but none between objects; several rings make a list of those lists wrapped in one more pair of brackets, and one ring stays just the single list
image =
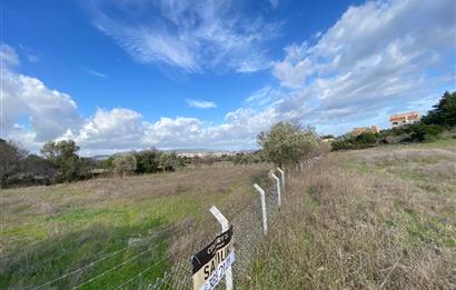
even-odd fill
[{"label": "dry brownish grassy field to the right of the fence", "polygon": [[456,140],[296,173],[241,289],[455,289]]}]

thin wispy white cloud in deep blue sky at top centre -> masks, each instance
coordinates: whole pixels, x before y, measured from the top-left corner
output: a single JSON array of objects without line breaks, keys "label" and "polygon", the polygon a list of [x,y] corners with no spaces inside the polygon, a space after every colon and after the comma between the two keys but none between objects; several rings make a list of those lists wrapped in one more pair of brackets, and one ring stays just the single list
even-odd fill
[{"label": "thin wispy white cloud in deep blue sky at top centre", "polygon": [[[266,69],[262,44],[277,34],[278,24],[242,14],[241,6],[231,0],[93,1],[89,9],[96,27],[139,62],[187,72]],[[119,13],[108,12],[116,8]]]}]

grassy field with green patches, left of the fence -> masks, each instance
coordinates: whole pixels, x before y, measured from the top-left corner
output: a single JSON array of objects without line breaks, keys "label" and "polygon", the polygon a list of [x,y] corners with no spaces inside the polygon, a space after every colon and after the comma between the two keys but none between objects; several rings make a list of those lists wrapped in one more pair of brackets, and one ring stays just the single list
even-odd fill
[{"label": "grassy field with green patches, left of the fence", "polygon": [[79,286],[122,262],[82,289],[112,289],[156,263],[129,284],[147,287],[218,231],[211,204],[236,214],[266,173],[245,166],[1,190],[0,289],[38,287],[107,256],[44,289]]}]

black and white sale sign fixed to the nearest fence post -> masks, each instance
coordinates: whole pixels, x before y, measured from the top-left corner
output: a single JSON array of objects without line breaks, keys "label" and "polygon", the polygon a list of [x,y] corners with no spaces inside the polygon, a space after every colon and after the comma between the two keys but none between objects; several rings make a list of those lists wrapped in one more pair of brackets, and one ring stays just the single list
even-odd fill
[{"label": "black and white sale sign fixed to the nearest fence post", "polygon": [[214,289],[234,261],[235,249],[232,247],[231,226],[192,257],[194,290]]}]

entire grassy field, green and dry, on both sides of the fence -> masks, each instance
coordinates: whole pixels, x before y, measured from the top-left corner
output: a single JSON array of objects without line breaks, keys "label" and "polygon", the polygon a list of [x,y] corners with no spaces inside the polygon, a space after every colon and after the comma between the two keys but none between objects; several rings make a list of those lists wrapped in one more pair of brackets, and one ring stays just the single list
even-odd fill
[{"label": "entire grassy field, green and dry, on both sides of the fence", "polygon": [[[145,288],[218,231],[211,204],[231,219],[257,202],[251,184],[266,184],[267,170],[2,190],[0,288],[37,287],[106,257],[44,289],[111,289],[153,266],[127,287]],[[329,153],[294,172],[252,253],[240,289],[455,289],[456,140]]]}]

